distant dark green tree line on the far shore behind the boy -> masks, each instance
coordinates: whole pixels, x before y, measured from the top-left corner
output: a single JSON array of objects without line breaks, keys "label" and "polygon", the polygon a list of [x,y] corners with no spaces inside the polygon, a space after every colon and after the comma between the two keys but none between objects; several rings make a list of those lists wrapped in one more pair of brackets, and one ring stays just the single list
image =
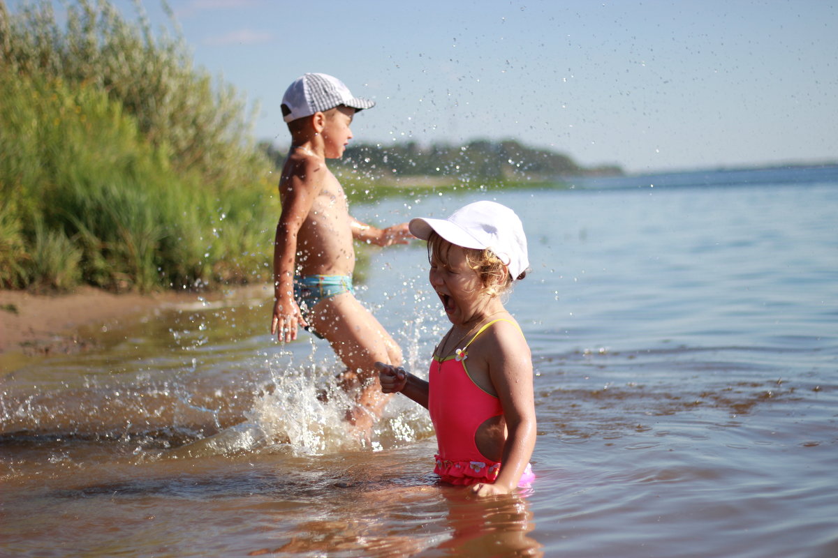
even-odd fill
[{"label": "distant dark green tree line on the far shore behind the boy", "polygon": [[[282,166],[286,151],[268,143],[262,143],[261,148],[277,167]],[[462,146],[422,146],[416,141],[391,146],[362,143],[349,146],[333,165],[370,178],[469,176],[522,180],[623,174],[619,166],[585,167],[563,153],[523,146],[515,140],[474,140]]]}]

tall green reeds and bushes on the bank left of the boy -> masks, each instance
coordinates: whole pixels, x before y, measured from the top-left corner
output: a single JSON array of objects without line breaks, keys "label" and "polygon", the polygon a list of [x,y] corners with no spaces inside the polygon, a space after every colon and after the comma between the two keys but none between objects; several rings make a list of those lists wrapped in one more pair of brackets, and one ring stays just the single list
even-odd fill
[{"label": "tall green reeds and bushes on the bank left of the boy", "polygon": [[179,38],[105,0],[0,0],[0,286],[190,288],[270,276],[272,169]]}]

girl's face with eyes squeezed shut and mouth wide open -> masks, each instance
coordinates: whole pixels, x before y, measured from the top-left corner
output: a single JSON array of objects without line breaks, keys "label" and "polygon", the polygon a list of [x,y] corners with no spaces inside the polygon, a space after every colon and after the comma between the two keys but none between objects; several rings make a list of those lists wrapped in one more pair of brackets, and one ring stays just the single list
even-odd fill
[{"label": "girl's face with eyes squeezed shut and mouth wide open", "polygon": [[468,265],[465,250],[455,244],[442,243],[433,250],[428,279],[454,325],[479,317],[491,299],[478,273]]}]

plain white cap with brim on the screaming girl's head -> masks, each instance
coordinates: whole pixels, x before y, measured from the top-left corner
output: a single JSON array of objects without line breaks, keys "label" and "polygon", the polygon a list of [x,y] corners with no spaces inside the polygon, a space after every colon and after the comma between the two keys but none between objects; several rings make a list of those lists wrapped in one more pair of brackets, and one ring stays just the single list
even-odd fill
[{"label": "plain white cap with brim on the screaming girl's head", "polygon": [[463,248],[489,249],[510,270],[512,279],[530,267],[526,236],[520,218],[498,202],[473,202],[447,219],[414,218],[411,234],[427,240],[436,232],[449,243]]}]

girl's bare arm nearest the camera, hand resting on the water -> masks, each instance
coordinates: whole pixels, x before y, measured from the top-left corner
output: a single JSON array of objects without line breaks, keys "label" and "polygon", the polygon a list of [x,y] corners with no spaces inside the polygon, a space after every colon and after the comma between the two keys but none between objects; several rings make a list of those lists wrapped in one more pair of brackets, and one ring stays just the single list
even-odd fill
[{"label": "girl's bare arm nearest the camera, hand resting on the water", "polygon": [[[498,324],[497,351],[491,351],[489,376],[504,409],[508,436],[500,474],[494,484],[473,484],[474,494],[509,494],[518,487],[535,448],[535,399],[530,347],[511,324]],[[493,328],[494,329],[494,328]]]}]

